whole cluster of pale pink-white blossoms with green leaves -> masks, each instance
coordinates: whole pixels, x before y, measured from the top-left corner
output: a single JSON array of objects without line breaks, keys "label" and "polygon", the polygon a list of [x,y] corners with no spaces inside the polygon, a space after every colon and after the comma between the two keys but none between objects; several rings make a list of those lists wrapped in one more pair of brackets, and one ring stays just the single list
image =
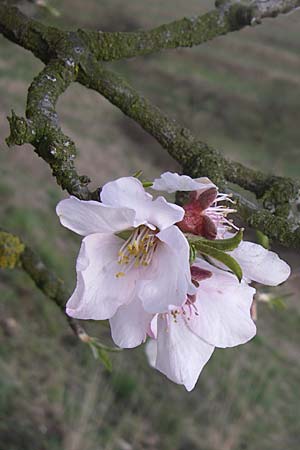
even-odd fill
[{"label": "whole cluster of pale pink-white blossoms with green leaves", "polygon": [[122,348],[149,338],[150,364],[191,390],[215,347],[255,335],[251,281],[275,286],[290,268],[241,240],[227,218],[231,198],[209,179],[167,172],[151,188],[188,191],[189,200],[180,207],[154,199],[139,179],[126,177],[105,184],[100,202],[70,197],[58,204],[62,225],[84,236],[66,311],[109,319]]}]

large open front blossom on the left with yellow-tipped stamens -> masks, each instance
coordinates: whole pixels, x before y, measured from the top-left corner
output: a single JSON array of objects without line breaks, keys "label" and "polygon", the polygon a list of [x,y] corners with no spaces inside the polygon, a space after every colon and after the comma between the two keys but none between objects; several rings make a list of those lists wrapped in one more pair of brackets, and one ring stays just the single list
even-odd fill
[{"label": "large open front blossom on the left with yellow-tipped stamens", "polygon": [[[66,307],[79,319],[109,319],[122,305],[145,317],[181,306],[193,292],[189,245],[174,224],[184,210],[163,197],[153,200],[139,180],[107,183],[101,201],[62,200],[62,225],[85,236],[77,259],[77,286]],[[116,234],[131,230],[126,242]],[[141,316],[140,316],[141,318]],[[138,345],[145,339],[138,337]]]}]

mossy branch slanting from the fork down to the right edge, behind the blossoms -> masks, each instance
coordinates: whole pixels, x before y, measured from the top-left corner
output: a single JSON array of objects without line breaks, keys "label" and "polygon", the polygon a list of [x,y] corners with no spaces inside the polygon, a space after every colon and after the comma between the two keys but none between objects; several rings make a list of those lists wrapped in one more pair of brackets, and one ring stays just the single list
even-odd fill
[{"label": "mossy branch slanting from the fork down to the right edge, behind the blossoms", "polygon": [[208,176],[222,189],[231,182],[255,193],[261,206],[253,208],[239,200],[239,213],[246,223],[283,245],[300,248],[300,186],[296,181],[269,176],[227,160],[96,61],[90,60],[88,67],[81,67],[78,80],[139,123],[183,166],[185,173]]}]

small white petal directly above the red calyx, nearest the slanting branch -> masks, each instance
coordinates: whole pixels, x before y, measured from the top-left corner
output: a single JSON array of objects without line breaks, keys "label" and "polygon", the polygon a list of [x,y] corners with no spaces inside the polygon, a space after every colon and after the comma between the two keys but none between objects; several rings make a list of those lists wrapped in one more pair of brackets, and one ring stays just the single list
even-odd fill
[{"label": "small white petal directly above the red calyx, nearest the slanting branch", "polygon": [[152,189],[156,191],[176,192],[176,191],[199,191],[199,194],[216,187],[208,178],[191,178],[188,175],[178,175],[178,173],[165,172],[160,178],[153,182]]}]

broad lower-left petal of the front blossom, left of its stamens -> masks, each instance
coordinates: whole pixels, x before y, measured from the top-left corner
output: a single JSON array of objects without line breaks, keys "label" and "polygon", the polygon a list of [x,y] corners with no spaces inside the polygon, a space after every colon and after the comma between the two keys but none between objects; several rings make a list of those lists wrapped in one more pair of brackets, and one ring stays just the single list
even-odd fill
[{"label": "broad lower-left petal of the front blossom, left of its stamens", "polygon": [[77,285],[66,305],[77,319],[111,318],[134,295],[137,271],[123,277],[117,263],[122,240],[113,235],[91,234],[83,239],[77,262]]}]

